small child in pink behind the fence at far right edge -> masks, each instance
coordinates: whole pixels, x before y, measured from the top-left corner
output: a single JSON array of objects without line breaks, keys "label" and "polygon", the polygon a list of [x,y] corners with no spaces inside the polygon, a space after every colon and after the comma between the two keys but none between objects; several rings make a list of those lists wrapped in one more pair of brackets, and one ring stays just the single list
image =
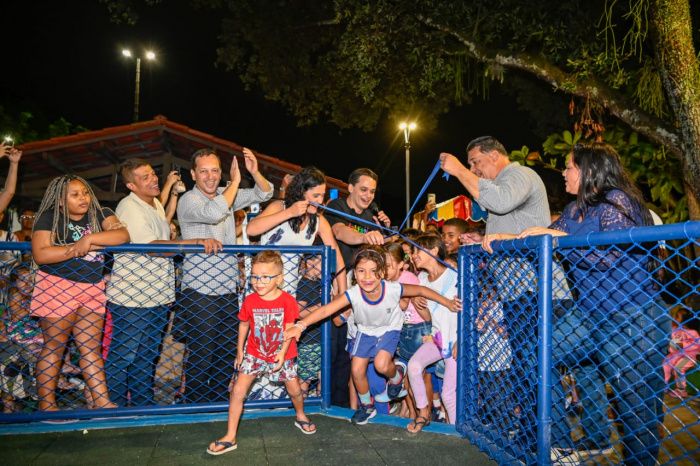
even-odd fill
[{"label": "small child in pink behind the fence at far right edge", "polygon": [[664,380],[668,383],[671,375],[676,377],[676,389],[670,392],[676,398],[686,398],[685,374],[697,365],[697,357],[700,355],[700,334],[697,331],[683,326],[685,312],[677,314],[671,322],[673,333],[671,344],[668,348],[668,356],[664,359]]}]

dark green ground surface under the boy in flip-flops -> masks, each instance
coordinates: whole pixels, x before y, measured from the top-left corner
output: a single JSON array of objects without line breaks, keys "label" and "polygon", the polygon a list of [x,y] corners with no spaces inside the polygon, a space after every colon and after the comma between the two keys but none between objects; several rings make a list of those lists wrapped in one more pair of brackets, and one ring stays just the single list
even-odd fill
[{"label": "dark green ground surface under the boy in flip-flops", "polygon": [[100,429],[0,437],[3,465],[493,465],[460,437],[382,424],[354,426],[312,415],[315,435],[304,435],[291,417],[244,419],[238,449],[210,456],[205,449],[226,429],[223,422]]}]

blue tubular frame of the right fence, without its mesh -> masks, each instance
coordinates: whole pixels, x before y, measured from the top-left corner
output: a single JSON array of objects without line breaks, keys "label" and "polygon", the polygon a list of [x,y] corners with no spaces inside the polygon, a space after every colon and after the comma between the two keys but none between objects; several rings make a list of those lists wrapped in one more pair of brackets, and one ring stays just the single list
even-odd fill
[{"label": "blue tubular frame of the right fence, without its mesh", "polygon": [[[494,254],[524,250],[538,252],[538,309],[537,309],[537,452],[536,463],[549,465],[552,427],[552,271],[553,255],[558,248],[590,248],[618,244],[638,244],[672,240],[695,240],[700,238],[700,222],[685,222],[655,227],[637,227],[628,230],[589,233],[587,235],[552,237],[534,236],[525,239],[500,241],[493,245]],[[477,355],[472,354],[476,345],[471,341],[474,334],[475,310],[478,307],[478,283],[474,278],[478,267],[477,254],[484,251],[479,245],[463,246],[459,250],[459,293],[463,298],[463,308],[459,315],[458,360],[457,360],[457,422],[456,429],[470,442],[486,452],[499,464],[520,463],[522,458],[514,458],[496,445],[486,435],[469,426],[468,419],[475,416],[477,402]],[[696,263],[694,269],[700,268]],[[698,283],[691,284],[694,293],[700,293]],[[465,348],[467,350],[465,351]]]}]

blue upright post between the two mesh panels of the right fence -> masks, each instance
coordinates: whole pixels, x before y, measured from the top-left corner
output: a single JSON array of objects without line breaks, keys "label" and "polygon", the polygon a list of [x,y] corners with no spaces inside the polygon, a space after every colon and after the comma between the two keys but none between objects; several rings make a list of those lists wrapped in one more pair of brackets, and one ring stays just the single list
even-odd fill
[{"label": "blue upright post between the two mesh panels of the right fence", "polygon": [[539,237],[537,306],[537,464],[551,464],[552,236]]}]

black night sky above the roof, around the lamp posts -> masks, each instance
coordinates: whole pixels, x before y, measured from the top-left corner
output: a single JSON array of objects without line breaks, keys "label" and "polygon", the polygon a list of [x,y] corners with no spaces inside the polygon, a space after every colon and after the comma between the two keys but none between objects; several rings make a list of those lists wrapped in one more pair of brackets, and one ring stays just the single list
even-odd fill
[{"label": "black night sky above the roof, around the lamp posts", "polygon": [[[142,61],[141,120],[162,114],[293,163],[317,165],[343,180],[352,169],[367,166],[380,175],[379,204],[396,222],[403,218],[403,140],[393,121],[371,133],[329,124],[297,127],[280,105],[256,90],[245,91],[234,73],[215,66],[219,13],[193,11],[188,2],[164,4],[143,8],[132,27],[111,23],[96,0],[4,3],[5,23],[14,23],[14,33],[5,29],[0,105],[13,115],[32,110],[89,129],[130,123],[135,64],[121,49],[150,47],[158,59]],[[512,97],[494,84],[488,101],[455,108],[435,130],[412,133],[412,196],[440,151],[464,156],[473,137],[491,134],[508,150],[522,145],[539,150],[541,140],[526,121]],[[439,202],[464,189],[440,178],[429,192]]]}]

